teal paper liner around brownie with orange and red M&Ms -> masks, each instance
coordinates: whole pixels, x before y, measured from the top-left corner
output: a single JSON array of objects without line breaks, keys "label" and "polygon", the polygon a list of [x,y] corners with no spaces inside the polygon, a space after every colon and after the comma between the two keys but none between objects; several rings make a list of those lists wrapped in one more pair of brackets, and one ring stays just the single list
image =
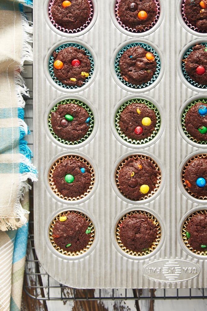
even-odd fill
[{"label": "teal paper liner around brownie with orange and red M&Ms", "polygon": [[68,85],[65,85],[63,84],[62,82],[60,82],[56,77],[55,77],[55,74],[54,74],[54,70],[53,70],[53,63],[54,63],[54,57],[53,57],[53,53],[52,55],[50,56],[49,58],[49,62],[48,62],[48,66],[49,66],[49,73],[52,77],[52,80],[58,85],[58,86],[61,86],[62,88],[65,88],[65,89],[69,89],[69,90],[73,90],[73,89],[78,89],[78,88],[81,88],[83,87],[89,80],[90,78],[92,77],[92,74],[93,74],[93,71],[94,71],[94,61],[93,61],[93,58],[92,58],[92,55],[91,53],[88,51],[88,49],[86,49],[84,46],[80,45],[80,44],[77,44],[77,43],[67,43],[67,44],[63,44],[61,46],[59,46],[58,48],[56,48],[53,52],[60,52],[61,50],[65,49],[65,48],[68,48],[68,47],[75,47],[77,49],[82,49],[86,55],[88,56],[89,60],[90,60],[90,63],[91,63],[91,70],[89,72],[89,76],[86,77],[85,81],[83,82],[83,85],[82,86],[68,86]]}]

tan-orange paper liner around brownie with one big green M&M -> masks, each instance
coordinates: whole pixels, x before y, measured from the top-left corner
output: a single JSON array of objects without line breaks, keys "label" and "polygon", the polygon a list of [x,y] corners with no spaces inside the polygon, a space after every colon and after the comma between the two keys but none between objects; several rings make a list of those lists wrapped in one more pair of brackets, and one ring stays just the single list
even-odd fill
[{"label": "tan-orange paper liner around brownie with one big green M&M", "polygon": [[[55,171],[56,167],[58,164],[62,163],[64,160],[67,159],[76,159],[79,160],[80,162],[83,162],[85,165],[88,166],[88,168],[90,169],[90,173],[91,173],[91,185],[89,186],[87,192],[81,194],[80,196],[77,197],[65,197],[61,194],[61,192],[58,191],[58,189],[56,188],[56,184],[55,181],[53,179],[53,172]],[[94,186],[94,182],[95,182],[95,173],[94,170],[91,166],[91,164],[85,160],[84,158],[82,158],[81,156],[63,156],[61,158],[59,158],[58,160],[56,160],[56,162],[54,162],[51,166],[51,168],[49,169],[49,173],[48,173],[48,181],[49,181],[49,185],[50,188],[52,189],[52,191],[56,194],[56,196],[60,197],[61,199],[65,200],[65,201],[78,201],[84,197],[86,197],[92,190],[93,186]]]}]

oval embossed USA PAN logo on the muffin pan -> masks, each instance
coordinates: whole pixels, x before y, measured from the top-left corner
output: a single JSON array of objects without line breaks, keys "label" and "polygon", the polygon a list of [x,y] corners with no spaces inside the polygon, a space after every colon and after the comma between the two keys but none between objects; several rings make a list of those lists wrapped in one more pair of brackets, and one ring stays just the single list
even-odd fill
[{"label": "oval embossed USA PAN logo on the muffin pan", "polygon": [[195,263],[182,259],[157,260],[144,267],[144,275],[155,281],[187,281],[199,273],[200,268]]}]

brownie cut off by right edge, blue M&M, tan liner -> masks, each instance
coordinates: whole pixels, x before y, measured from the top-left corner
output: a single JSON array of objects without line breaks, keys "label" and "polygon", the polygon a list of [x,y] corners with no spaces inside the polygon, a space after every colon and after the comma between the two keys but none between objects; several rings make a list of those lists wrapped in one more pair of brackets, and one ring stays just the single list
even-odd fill
[{"label": "brownie cut off by right edge, blue M&M, tan liner", "polygon": [[183,169],[184,186],[193,197],[207,198],[207,156],[196,156],[190,159]]}]

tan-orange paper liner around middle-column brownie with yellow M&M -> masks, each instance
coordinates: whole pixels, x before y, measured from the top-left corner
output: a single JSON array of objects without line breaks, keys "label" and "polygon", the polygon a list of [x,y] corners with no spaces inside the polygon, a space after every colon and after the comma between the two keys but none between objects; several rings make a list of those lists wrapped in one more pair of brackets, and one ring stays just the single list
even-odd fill
[{"label": "tan-orange paper liner around middle-column brownie with yellow M&M", "polygon": [[154,165],[154,167],[156,168],[156,170],[160,173],[159,176],[157,177],[157,183],[154,185],[154,190],[152,190],[150,193],[146,193],[146,195],[144,195],[143,197],[141,197],[139,200],[137,201],[143,201],[145,199],[148,199],[149,197],[152,197],[156,191],[158,190],[158,188],[160,187],[160,183],[161,183],[161,172],[160,172],[160,168],[159,166],[155,163],[155,161],[153,159],[151,159],[150,157],[148,156],[143,156],[143,155],[132,155],[132,156],[128,156],[127,158],[125,158],[124,160],[122,160],[122,162],[119,164],[118,168],[116,169],[116,173],[115,173],[115,179],[116,179],[116,185],[117,185],[117,188],[119,189],[120,193],[122,193],[122,195],[124,195],[124,197],[128,198],[129,200],[132,200],[132,201],[135,201],[136,200],[133,200],[131,198],[128,197],[127,194],[123,193],[123,191],[120,189],[120,186],[119,186],[119,172],[120,172],[120,169],[122,169],[125,165],[125,163],[127,162],[127,160],[129,159],[134,159],[134,160],[137,160],[137,159],[142,159],[142,160],[150,160],[150,162]]}]

